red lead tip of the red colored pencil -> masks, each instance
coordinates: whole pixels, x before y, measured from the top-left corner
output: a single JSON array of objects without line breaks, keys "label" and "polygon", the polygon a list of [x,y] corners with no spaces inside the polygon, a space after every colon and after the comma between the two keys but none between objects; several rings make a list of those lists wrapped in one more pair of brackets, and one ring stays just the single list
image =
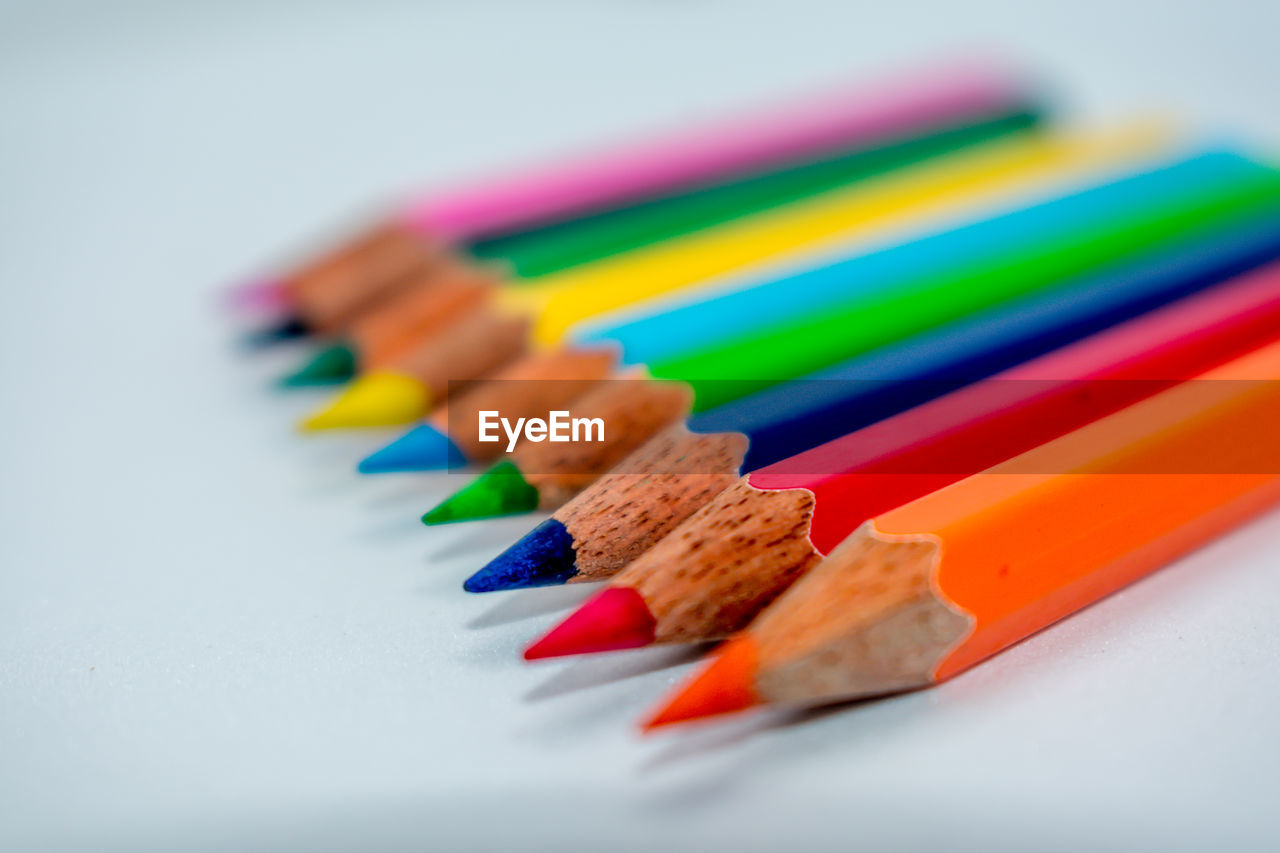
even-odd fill
[{"label": "red lead tip of the red colored pencil", "polygon": [[630,587],[611,587],[570,613],[540,640],[525,649],[526,661],[593,652],[618,652],[653,643],[657,621],[649,606]]}]

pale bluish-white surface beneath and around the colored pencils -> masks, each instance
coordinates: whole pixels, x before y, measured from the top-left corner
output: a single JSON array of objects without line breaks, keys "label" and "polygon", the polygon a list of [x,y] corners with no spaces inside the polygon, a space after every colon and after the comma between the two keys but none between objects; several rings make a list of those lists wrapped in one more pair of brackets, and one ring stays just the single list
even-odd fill
[{"label": "pale bluish-white surface beneath and around the colored pencils", "polygon": [[0,12],[0,848],[1275,849],[1280,516],[940,689],[643,740],[687,658],[520,663],[581,592],[458,584],[527,523],[422,529],[457,480],[357,479],[229,343],[393,191],[945,45],[1280,141],[1275,3],[858,5]]}]

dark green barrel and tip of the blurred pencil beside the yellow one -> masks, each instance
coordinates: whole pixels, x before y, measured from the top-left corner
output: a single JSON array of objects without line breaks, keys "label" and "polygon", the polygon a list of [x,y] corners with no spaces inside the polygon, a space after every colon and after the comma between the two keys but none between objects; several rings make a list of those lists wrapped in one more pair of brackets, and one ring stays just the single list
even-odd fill
[{"label": "dark green barrel and tip of the blurred pencil beside the yellow one", "polygon": [[[836,160],[810,163],[692,195],[662,199],[648,205],[492,241],[484,246],[483,252],[472,248],[471,254],[481,255],[489,261],[479,265],[480,269],[492,270],[494,275],[500,269],[506,273],[503,283],[518,286],[609,255],[778,207],[932,156],[1027,132],[1037,120],[1038,114],[1030,108],[1014,106],[993,117],[982,117],[977,123],[929,128],[925,136],[895,140]],[[383,313],[402,314],[397,304],[404,300],[404,288],[397,288],[366,311],[381,309]],[[430,314],[430,310],[429,306],[420,305],[413,313],[422,315]],[[358,323],[360,316],[356,314],[351,323]],[[339,336],[296,369],[285,379],[285,384],[337,384],[352,379],[361,370],[378,364],[367,355],[364,343],[358,337]]]}]

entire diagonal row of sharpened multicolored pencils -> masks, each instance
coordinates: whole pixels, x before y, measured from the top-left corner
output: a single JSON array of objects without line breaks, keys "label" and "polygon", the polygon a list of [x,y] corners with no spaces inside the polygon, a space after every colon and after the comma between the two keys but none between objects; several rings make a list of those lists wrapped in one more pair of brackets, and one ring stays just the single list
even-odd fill
[{"label": "entire diagonal row of sharpened multicolored pencils", "polygon": [[[431,193],[237,293],[361,473],[550,512],[526,658],[727,640],[646,720],[934,684],[1280,501],[1280,170],[952,63]],[[594,441],[485,441],[564,410]]]}]

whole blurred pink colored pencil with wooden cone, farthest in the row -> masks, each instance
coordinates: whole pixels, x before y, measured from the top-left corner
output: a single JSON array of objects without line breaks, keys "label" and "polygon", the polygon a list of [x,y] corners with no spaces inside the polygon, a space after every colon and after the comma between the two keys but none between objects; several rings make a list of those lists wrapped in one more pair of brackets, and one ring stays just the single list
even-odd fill
[{"label": "whole blurred pink colored pencil with wooden cone, farthest in the row", "polygon": [[762,110],[737,120],[631,143],[559,165],[436,192],[406,205],[335,251],[275,282],[256,302],[287,306],[297,330],[333,328],[444,246],[714,186],[1025,100],[993,68],[943,64]]}]

